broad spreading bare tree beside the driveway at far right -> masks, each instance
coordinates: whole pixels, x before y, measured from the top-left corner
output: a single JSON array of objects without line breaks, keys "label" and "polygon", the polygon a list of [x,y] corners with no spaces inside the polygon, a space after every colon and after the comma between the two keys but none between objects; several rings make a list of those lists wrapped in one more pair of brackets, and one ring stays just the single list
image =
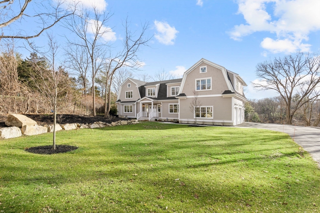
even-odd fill
[{"label": "broad spreading bare tree beside the driveway at far right", "polygon": [[[259,63],[252,83],[257,90],[276,90],[286,104],[286,123],[292,124],[294,113],[304,104],[319,100],[320,56],[297,52],[283,58]],[[293,102],[293,95],[299,98]]]}]

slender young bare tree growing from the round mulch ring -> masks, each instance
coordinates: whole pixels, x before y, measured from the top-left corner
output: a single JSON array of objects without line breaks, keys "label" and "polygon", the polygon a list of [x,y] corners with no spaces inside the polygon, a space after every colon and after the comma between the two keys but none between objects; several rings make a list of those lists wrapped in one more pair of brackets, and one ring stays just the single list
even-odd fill
[{"label": "slender young bare tree growing from the round mulch ring", "polygon": [[59,44],[52,35],[48,35],[49,49],[43,54],[49,65],[48,69],[44,69],[38,64],[34,64],[35,73],[32,74],[32,79],[35,81],[36,87],[44,95],[53,108],[53,144],[52,149],[56,148],[56,123],[57,123],[57,105],[64,102],[62,98],[58,100],[58,95],[65,92],[69,87],[68,74],[64,67],[57,65],[57,55],[59,54]]}]

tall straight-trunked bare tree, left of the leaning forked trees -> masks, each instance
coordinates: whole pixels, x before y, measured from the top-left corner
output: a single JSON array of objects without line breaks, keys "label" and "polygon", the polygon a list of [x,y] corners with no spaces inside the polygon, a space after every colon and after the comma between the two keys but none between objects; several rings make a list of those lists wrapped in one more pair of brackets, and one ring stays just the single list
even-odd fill
[{"label": "tall straight-trunked bare tree, left of the leaning forked trees", "polygon": [[92,77],[92,109],[93,115],[96,115],[95,109],[95,94],[94,94],[94,79],[99,70],[103,70],[106,65],[107,53],[107,34],[112,34],[112,29],[106,27],[112,14],[104,12],[93,7],[93,13],[82,8],[78,16],[73,16],[73,19],[67,21],[66,27],[70,29],[79,41],[73,41],[66,36],[68,43],[74,46],[80,46],[87,52],[91,66]]}]

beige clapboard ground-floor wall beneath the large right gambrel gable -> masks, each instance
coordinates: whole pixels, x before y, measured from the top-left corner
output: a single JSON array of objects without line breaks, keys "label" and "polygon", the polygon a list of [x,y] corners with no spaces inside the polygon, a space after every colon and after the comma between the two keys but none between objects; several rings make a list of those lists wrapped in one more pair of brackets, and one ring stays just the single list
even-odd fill
[{"label": "beige clapboard ground-floor wall beneath the large right gambrel gable", "polygon": [[[203,106],[213,106],[213,120],[232,120],[232,98],[222,96],[198,97]],[[190,111],[192,98],[180,100],[180,119],[193,119]]]}]

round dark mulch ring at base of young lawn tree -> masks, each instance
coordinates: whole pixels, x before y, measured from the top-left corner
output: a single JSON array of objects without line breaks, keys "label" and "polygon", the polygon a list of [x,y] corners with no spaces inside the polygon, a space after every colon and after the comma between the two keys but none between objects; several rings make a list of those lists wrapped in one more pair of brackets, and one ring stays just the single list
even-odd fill
[{"label": "round dark mulch ring at base of young lawn tree", "polygon": [[56,145],[56,149],[52,149],[52,145],[50,146],[38,146],[38,147],[30,147],[26,148],[25,151],[41,154],[41,155],[51,155],[57,153],[65,153],[76,150],[78,147],[76,146],[69,146],[69,145]]}]

